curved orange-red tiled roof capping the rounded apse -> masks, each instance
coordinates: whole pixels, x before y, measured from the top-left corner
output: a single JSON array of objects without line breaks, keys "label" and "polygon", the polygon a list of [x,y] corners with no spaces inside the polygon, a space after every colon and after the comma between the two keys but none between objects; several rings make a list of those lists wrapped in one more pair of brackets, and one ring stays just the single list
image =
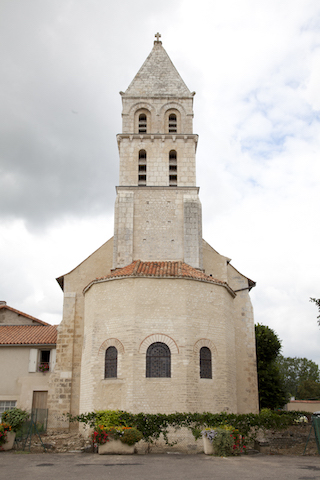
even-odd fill
[{"label": "curved orange-red tiled roof capping the rounded apse", "polygon": [[127,277],[183,278],[197,280],[221,285],[227,288],[231,295],[235,296],[234,291],[226,282],[222,282],[206,275],[201,270],[197,270],[184,262],[142,262],[141,260],[135,260],[126,267],[117,268],[105,277],[96,278],[90,282],[83,291],[86,292],[95,283]]}]

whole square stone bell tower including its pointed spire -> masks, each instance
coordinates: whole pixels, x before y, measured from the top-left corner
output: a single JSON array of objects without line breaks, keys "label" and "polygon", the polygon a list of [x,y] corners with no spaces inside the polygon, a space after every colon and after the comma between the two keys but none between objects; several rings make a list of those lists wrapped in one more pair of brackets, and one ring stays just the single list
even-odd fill
[{"label": "whole square stone bell tower including its pointed spire", "polygon": [[113,268],[134,260],[202,269],[193,96],[156,34],[122,96]]}]

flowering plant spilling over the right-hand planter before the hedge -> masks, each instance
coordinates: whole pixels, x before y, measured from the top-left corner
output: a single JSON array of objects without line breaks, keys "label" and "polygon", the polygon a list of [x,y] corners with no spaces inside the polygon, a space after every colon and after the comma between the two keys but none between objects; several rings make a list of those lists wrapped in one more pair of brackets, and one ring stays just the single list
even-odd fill
[{"label": "flowering plant spilling over the right-hand planter before the hedge", "polygon": [[201,434],[209,439],[218,456],[239,455],[246,449],[244,436],[231,425],[208,427],[202,430]]}]

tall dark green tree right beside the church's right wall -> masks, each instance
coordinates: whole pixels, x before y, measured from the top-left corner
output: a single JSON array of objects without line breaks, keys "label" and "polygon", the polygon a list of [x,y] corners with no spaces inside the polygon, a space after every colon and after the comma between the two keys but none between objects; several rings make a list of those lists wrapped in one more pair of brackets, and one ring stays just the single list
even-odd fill
[{"label": "tall dark green tree right beside the church's right wall", "polygon": [[265,325],[258,323],[255,326],[255,333],[260,409],[281,408],[287,402],[276,363],[281,342],[274,331]]}]

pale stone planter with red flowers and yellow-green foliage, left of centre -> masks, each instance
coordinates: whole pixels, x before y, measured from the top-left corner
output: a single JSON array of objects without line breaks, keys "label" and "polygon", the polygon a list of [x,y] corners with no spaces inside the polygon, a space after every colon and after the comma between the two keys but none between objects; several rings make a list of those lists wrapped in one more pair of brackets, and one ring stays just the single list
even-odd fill
[{"label": "pale stone planter with red flowers and yellow-green foliage, left of centre", "polygon": [[135,427],[98,425],[92,433],[99,455],[134,453],[134,446],[141,439],[142,433]]}]

